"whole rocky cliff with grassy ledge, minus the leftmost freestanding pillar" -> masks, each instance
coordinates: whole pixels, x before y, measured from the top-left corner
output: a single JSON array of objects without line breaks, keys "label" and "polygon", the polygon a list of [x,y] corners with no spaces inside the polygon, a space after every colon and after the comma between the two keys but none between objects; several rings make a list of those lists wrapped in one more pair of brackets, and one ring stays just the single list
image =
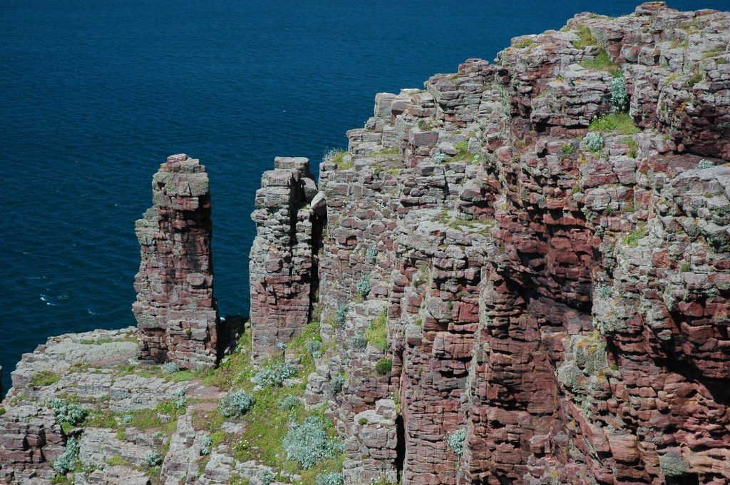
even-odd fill
[{"label": "whole rocky cliff with grassy ledge, minus the leftmost freestanding pillar", "polygon": [[63,452],[77,484],[730,483],[729,46],[730,13],[652,2],[378,94],[317,185],[264,175],[220,367],[50,340],[4,402],[4,478]]}]

